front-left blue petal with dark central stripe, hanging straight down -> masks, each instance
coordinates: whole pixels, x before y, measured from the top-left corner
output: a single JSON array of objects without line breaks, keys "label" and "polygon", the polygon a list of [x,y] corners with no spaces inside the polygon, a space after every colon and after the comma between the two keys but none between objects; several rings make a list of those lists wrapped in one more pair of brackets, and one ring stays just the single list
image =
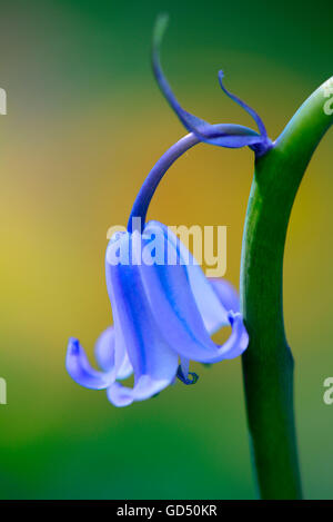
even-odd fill
[{"label": "front-left blue petal with dark central stripe, hanging straight down", "polygon": [[[161,334],[141,280],[138,264],[141,262],[142,236],[137,230],[133,234],[123,233],[120,248],[127,248],[128,242],[133,257],[132,263],[112,264],[112,257],[109,256],[110,244],[105,258],[107,286],[114,327],[121,335],[134,371],[132,392],[129,392],[130,388],[123,391],[120,385],[110,391],[109,396],[114,404],[119,396],[125,395],[127,402],[141,401],[143,396],[147,398],[154,395],[157,390],[161,391],[174,380],[178,368],[178,353],[170,347]],[[121,402],[122,398],[119,401]]]}]

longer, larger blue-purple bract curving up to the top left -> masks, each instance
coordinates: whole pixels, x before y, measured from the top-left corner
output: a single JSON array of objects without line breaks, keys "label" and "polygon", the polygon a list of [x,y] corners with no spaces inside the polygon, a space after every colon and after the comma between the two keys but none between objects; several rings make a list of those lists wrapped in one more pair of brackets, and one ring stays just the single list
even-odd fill
[{"label": "longer, larger blue-purple bract curving up to the top left", "polygon": [[160,63],[159,49],[167,23],[168,18],[165,16],[159,17],[157,20],[153,36],[152,66],[162,93],[165,96],[183,126],[190,132],[193,132],[201,141],[220,147],[240,148],[260,145],[262,137],[248,127],[240,125],[210,125],[181,107],[163,75]]}]

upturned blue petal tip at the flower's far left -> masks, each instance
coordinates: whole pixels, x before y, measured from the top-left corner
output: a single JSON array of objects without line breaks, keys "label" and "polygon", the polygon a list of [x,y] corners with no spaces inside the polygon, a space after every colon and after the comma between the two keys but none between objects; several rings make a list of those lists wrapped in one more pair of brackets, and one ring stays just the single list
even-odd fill
[{"label": "upturned blue petal tip at the flower's far left", "polygon": [[94,370],[90,365],[79,339],[73,337],[69,339],[65,367],[73,381],[91,390],[104,390],[115,380],[114,368],[110,372]]}]

